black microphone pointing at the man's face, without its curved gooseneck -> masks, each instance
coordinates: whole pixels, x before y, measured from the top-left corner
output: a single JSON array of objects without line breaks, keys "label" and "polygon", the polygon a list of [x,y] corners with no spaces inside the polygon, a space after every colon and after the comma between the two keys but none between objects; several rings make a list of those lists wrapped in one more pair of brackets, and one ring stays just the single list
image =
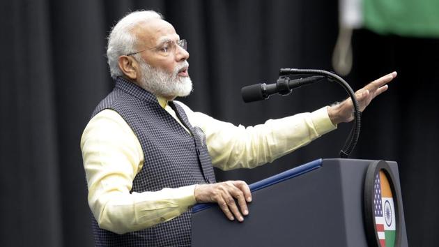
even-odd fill
[{"label": "black microphone pointing at the man's face, without its curved gooseneck", "polygon": [[306,84],[318,82],[324,78],[323,75],[310,76],[291,80],[289,77],[281,76],[276,83],[265,84],[259,83],[243,87],[241,89],[242,100],[245,103],[250,103],[258,100],[265,100],[270,95],[279,93],[280,95],[288,95],[291,90],[302,87]]}]

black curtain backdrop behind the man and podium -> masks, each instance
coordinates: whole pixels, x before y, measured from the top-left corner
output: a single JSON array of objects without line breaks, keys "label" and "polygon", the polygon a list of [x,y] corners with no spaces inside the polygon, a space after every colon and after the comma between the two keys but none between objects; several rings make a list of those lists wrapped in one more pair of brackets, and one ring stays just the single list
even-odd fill
[{"label": "black curtain backdrop behind the man and podium", "polygon": [[[193,110],[245,126],[309,112],[346,97],[321,82],[245,104],[240,88],[273,83],[279,68],[332,70],[336,0],[1,1],[0,246],[93,246],[79,140],[111,90],[109,29],[125,13],[154,9],[189,41]],[[352,158],[399,163],[410,246],[437,246],[439,42],[356,31],[354,89],[397,70],[362,115]],[[254,170],[218,180],[252,183],[316,158],[338,156],[351,126]],[[300,198],[298,198],[300,200]],[[292,206],[293,207],[293,206]],[[269,214],[269,212],[267,212]]]}]

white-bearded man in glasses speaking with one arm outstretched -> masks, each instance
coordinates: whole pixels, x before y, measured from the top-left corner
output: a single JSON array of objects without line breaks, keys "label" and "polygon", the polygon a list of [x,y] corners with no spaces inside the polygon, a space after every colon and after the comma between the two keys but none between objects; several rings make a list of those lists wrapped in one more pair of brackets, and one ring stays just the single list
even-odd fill
[{"label": "white-bearded man in glasses speaking with one arm outstretched", "polygon": [[[216,183],[212,165],[263,165],[353,119],[351,100],[249,128],[193,112],[174,101],[192,91],[185,48],[153,11],[130,13],[111,30],[107,57],[116,87],[81,140],[97,246],[189,246],[197,202],[216,202],[227,218],[242,221],[249,187]],[[395,76],[357,91],[361,110]]]}]

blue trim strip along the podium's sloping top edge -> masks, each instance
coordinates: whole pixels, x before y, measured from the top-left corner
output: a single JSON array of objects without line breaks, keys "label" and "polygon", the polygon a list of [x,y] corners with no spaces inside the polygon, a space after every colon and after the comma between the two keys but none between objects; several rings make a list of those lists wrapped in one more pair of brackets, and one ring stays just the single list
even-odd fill
[{"label": "blue trim strip along the podium's sloping top edge", "polygon": [[[279,174],[276,174],[272,177],[268,177],[266,179],[263,179],[261,181],[257,181],[256,183],[250,184],[249,188],[250,191],[254,192],[256,190],[260,190],[262,188],[272,186],[273,184],[280,183],[282,181],[285,181],[287,179],[291,179],[293,177],[298,177],[302,174],[305,174],[307,172],[311,172],[312,170],[316,170],[317,168],[320,168],[322,166],[323,160],[321,158],[317,160],[313,160],[309,163],[306,163],[304,165],[300,165],[298,167],[294,167],[290,170],[286,170],[285,172],[281,172]],[[210,207],[215,206],[215,203],[200,203],[196,204],[194,207],[192,207],[192,213],[197,213],[199,211],[203,211],[204,209],[208,209]]]}]

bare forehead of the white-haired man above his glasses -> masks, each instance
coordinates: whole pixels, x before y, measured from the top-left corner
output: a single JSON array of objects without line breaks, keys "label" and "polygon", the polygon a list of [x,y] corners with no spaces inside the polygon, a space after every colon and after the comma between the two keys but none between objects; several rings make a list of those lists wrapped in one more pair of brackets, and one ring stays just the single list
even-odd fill
[{"label": "bare forehead of the white-haired man above his glasses", "polygon": [[132,30],[139,40],[139,45],[155,46],[164,40],[178,40],[174,27],[161,19],[148,20],[137,24]]}]

